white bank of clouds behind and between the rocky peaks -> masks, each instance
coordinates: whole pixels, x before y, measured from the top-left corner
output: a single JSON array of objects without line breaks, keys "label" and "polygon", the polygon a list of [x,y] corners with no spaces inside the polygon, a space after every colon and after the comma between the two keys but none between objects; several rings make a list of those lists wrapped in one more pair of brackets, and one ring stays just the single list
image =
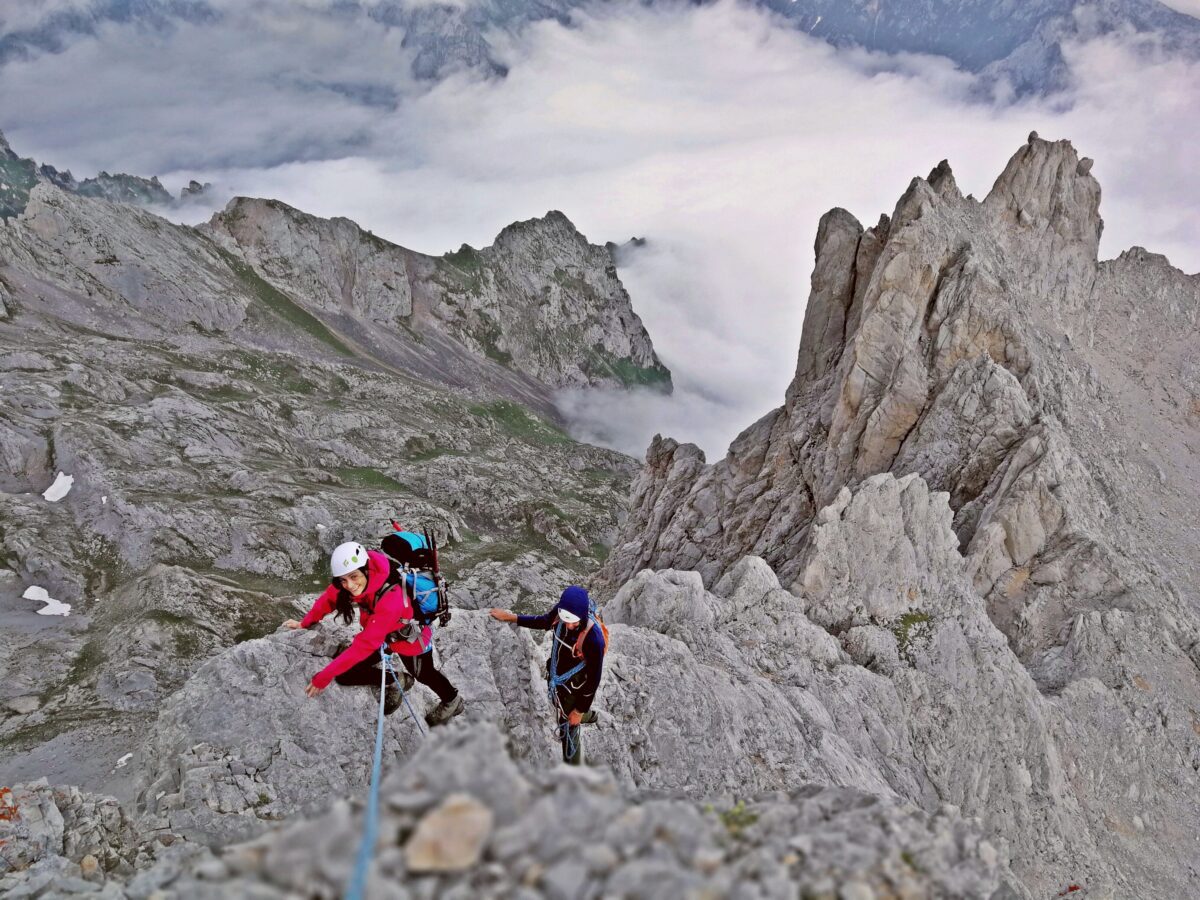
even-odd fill
[{"label": "white bank of clouds behind and between the rocky peaks", "polygon": [[430,89],[395,29],[244,8],[10,62],[0,128],[77,175],[200,178],[425,252],[550,209],[595,242],[649,239],[622,278],[677,396],[564,398],[580,433],[635,455],[660,431],[714,458],[778,406],[821,214],[871,224],[943,157],[982,197],[1031,130],[1069,138],[1104,188],[1103,256],[1140,244],[1200,270],[1200,67],[1152,38],[1070,47],[1068,96],[994,106],[944,60],[835,52],[731,2],[614,4],[502,47],[505,79]]}]

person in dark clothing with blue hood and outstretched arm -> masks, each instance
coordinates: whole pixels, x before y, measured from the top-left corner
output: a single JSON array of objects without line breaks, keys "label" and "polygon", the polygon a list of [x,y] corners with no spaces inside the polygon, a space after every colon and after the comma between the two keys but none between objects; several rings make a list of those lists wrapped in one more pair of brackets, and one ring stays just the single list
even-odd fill
[{"label": "person in dark clothing with blue hood and outstretched arm", "polygon": [[582,766],[583,733],[580,726],[596,719],[592,702],[600,686],[607,649],[604,629],[592,617],[588,592],[572,584],[541,616],[517,616],[509,610],[492,610],[491,613],[493,619],[511,622],[521,628],[553,630],[550,658],[546,660],[550,702],[558,714],[563,761]]}]

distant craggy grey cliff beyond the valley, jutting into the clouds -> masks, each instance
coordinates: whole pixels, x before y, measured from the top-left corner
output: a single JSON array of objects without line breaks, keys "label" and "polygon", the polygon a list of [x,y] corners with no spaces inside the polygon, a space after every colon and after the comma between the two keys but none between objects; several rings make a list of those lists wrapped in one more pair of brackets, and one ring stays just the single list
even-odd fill
[{"label": "distant craggy grey cliff beyond the valley, jutting into the clouds", "polygon": [[670,390],[610,252],[562,212],[439,258],[277,200],[236,198],[202,230],[318,314],[440,332],[552,388]]}]

